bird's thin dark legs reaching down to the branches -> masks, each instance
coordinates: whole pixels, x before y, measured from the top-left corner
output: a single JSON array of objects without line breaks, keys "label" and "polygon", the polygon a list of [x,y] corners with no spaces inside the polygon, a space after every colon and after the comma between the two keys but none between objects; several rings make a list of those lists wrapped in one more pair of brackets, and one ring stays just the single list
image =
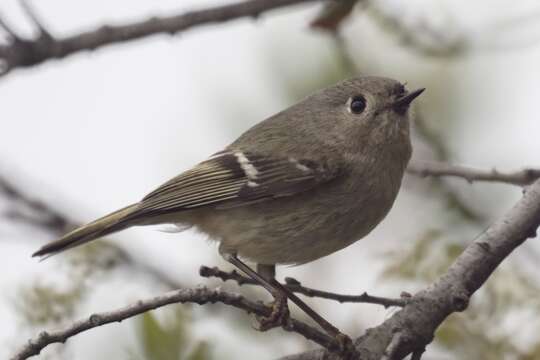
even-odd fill
[{"label": "bird's thin dark legs reaching down to the branches", "polygon": [[[330,324],[328,321],[326,321],[321,315],[317,314],[315,310],[310,308],[305,302],[300,300],[295,294],[293,294],[289,289],[287,289],[285,286],[283,286],[281,283],[276,281],[274,279],[275,275],[275,267],[274,265],[259,265],[258,270],[264,273],[264,275],[258,273],[257,271],[251,269],[248,265],[246,265],[244,262],[242,262],[235,254],[230,253],[222,253],[222,256],[225,260],[236,266],[238,269],[243,271],[246,275],[248,275],[253,280],[257,281],[261,286],[263,286],[272,296],[274,297],[274,309],[272,311],[272,315],[276,311],[276,305],[277,307],[283,306],[280,305],[278,302],[282,301],[285,303],[285,307],[287,305],[287,298],[290,299],[293,303],[296,304],[303,312],[305,312],[309,317],[311,317],[321,328],[324,329],[330,336],[336,339],[336,341],[339,343],[340,348],[344,352],[354,351],[354,347],[352,344],[351,339],[343,334],[341,331],[339,331],[335,326]],[[265,278],[264,276],[268,276],[269,278]],[[271,277],[271,279],[270,279]],[[282,320],[282,319],[280,319]],[[264,324],[261,324],[264,325]],[[274,325],[276,326],[276,325]]]}]

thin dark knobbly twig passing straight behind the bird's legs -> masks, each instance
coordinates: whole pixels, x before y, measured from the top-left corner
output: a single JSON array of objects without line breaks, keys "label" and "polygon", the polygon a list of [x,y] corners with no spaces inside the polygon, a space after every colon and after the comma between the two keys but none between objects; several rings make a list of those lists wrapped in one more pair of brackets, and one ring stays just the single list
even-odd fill
[{"label": "thin dark knobbly twig passing straight behind the bird's legs", "polygon": [[[199,269],[199,274],[203,277],[216,277],[221,279],[222,281],[232,280],[238,283],[238,285],[259,285],[255,281],[253,281],[250,278],[247,278],[241,274],[239,274],[236,270],[232,270],[230,272],[220,270],[218,267],[207,267],[207,266],[201,266]],[[371,296],[367,293],[363,293],[361,295],[343,295],[343,294],[336,294],[332,292],[312,289],[303,286],[298,280],[293,278],[285,278],[285,286],[287,289],[291,290],[292,292],[302,294],[309,297],[317,297],[322,299],[328,299],[328,300],[335,300],[340,303],[367,303],[367,304],[376,304],[376,305],[382,305],[385,308],[388,308],[390,306],[398,306],[403,307],[407,305],[407,299],[391,299],[391,298],[384,298],[384,297],[378,297],[378,296]]]}]

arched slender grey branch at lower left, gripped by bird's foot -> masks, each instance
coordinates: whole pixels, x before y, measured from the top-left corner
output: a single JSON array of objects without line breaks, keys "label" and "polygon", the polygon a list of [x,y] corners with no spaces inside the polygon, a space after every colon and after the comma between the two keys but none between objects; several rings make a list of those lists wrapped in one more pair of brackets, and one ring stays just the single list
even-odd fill
[{"label": "arched slender grey branch at lower left, gripped by bird's foot", "polygon": [[[29,340],[26,345],[21,347],[21,349],[11,357],[11,360],[27,359],[31,356],[38,355],[41,350],[48,345],[53,343],[64,343],[70,337],[83,331],[105,324],[120,322],[146,311],[176,303],[196,303],[199,305],[223,303],[244,310],[248,314],[255,314],[258,316],[269,316],[272,312],[272,309],[269,306],[263,305],[260,302],[248,300],[240,294],[224,292],[218,289],[211,290],[206,287],[180,289],[170,291],[154,298],[140,300],[124,308],[90,315],[88,318],[76,321],[61,330],[51,332],[43,331],[35,339]],[[286,331],[300,334],[306,339],[312,340],[328,349],[336,349],[338,346],[334,339],[301,321],[289,318],[287,323],[282,327]]]}]

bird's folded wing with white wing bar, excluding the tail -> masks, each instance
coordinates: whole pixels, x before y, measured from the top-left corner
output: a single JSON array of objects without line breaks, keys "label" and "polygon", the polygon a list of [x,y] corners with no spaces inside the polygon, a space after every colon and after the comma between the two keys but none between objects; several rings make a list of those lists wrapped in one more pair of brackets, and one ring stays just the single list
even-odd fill
[{"label": "bird's folded wing with white wing bar, excluding the tail", "polygon": [[210,204],[227,208],[290,196],[336,178],[340,169],[324,161],[221,152],[148,194],[137,213],[158,215]]}]

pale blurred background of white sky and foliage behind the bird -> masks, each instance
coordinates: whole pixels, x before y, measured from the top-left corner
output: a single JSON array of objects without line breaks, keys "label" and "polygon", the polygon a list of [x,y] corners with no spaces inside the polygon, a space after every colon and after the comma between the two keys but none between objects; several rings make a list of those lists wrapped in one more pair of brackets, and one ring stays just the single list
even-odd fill
[{"label": "pale blurred background of white sky and foliage behind the bird", "polygon": [[[33,3],[62,36],[226,2]],[[42,329],[178,286],[223,286],[269,300],[260,289],[200,278],[200,265],[230,266],[191,231],[137,228],[44,262],[30,254],[341,79],[382,75],[427,88],[415,108],[415,160],[540,166],[537,1],[360,1],[337,29],[310,26],[321,8],[152,36],[0,78],[0,357]],[[1,0],[0,12],[32,36],[16,0]],[[313,263],[280,267],[278,277],[349,294],[414,293],[520,195],[508,185],[407,176],[390,215],[368,237]],[[469,309],[439,329],[424,359],[540,359],[539,260],[535,240],[512,254]],[[354,337],[396,311],[306,301]],[[273,359],[314,347],[252,326],[225,306],[172,305],[49,346],[40,359]]]}]

